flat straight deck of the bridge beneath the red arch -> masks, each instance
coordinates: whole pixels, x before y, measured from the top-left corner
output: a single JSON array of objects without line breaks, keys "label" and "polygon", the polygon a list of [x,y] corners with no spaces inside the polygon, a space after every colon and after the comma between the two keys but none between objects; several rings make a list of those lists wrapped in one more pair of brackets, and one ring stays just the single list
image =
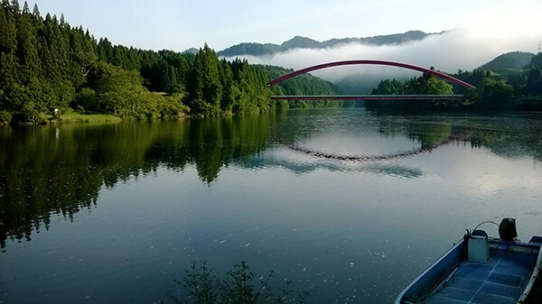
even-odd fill
[{"label": "flat straight deck of the bridge beneath the red arch", "polygon": [[298,95],[272,96],[274,100],[451,100],[464,95]]}]

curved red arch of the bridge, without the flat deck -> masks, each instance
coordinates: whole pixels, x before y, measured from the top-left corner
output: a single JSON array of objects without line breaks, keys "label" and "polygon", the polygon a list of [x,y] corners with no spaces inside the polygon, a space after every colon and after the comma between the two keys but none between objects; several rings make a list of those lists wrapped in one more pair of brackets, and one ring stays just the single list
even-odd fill
[{"label": "curved red arch of the bridge, without the flat deck", "polygon": [[456,83],[458,85],[461,85],[464,88],[475,88],[474,86],[472,86],[471,84],[469,84],[467,82],[464,82],[463,80],[460,80],[458,78],[453,78],[450,75],[446,75],[444,73],[441,73],[441,72],[433,70],[433,69],[425,69],[425,68],[417,67],[417,66],[411,65],[411,64],[406,64],[406,63],[401,63],[401,62],[396,62],[396,61],[387,61],[387,60],[343,60],[343,61],[334,61],[334,62],[322,63],[322,64],[315,65],[315,66],[312,66],[312,67],[295,70],[295,71],[293,71],[291,73],[288,73],[288,74],[286,74],[284,76],[281,76],[279,78],[271,80],[271,81],[269,81],[267,83],[267,87],[275,86],[277,83],[282,82],[285,79],[293,78],[293,77],[295,77],[297,75],[312,72],[313,70],[327,69],[327,68],[338,67],[338,66],[358,65],[358,64],[360,64],[360,65],[365,65],[365,64],[369,65],[370,64],[370,65],[381,65],[381,66],[391,66],[391,67],[397,67],[397,68],[413,69],[413,70],[417,70],[417,71],[420,71],[420,72],[423,72],[423,73],[433,75],[433,76],[435,76],[437,78],[446,79],[448,81],[451,81],[451,82],[454,82],[454,83]]}]

